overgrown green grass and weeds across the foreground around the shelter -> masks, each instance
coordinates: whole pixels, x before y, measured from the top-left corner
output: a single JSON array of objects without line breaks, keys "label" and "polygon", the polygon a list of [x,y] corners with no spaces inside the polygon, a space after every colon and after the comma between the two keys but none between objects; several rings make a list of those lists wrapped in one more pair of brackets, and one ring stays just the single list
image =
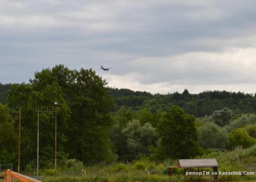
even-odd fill
[{"label": "overgrown green grass and weeds across the foreground around the shelter", "polygon": [[[238,158],[241,163],[254,163],[256,164],[256,145],[253,147],[243,149],[237,147],[233,151],[210,151],[208,154],[197,158],[215,158],[219,165],[219,171],[232,172],[234,171],[256,171],[256,165],[239,164]],[[39,175],[43,176],[43,182],[168,182],[168,167],[177,166],[178,161],[170,161],[169,159],[162,162],[150,162],[148,158],[141,158],[132,161],[128,164],[112,162],[105,166],[104,163],[97,165],[83,165],[82,162],[76,159],[68,159],[65,162],[59,163],[57,170],[57,179],[54,177],[54,163],[50,161],[44,168],[41,167]],[[148,169],[149,176],[144,170],[125,171],[131,169]],[[34,164],[29,164],[22,174],[27,176],[36,175]],[[86,176],[83,174],[82,169],[85,169]],[[92,172],[90,170],[97,169],[99,172]],[[112,170],[112,171],[108,171]],[[203,168],[203,171],[213,171],[212,168]],[[184,170],[177,168],[173,171],[173,181],[184,181]],[[1,176],[6,176],[5,172],[1,172]],[[196,182],[197,179],[193,176],[191,181]],[[203,181],[213,181],[213,175],[203,175]],[[255,181],[255,175],[219,175],[219,181]],[[0,180],[0,182],[6,182]]]}]

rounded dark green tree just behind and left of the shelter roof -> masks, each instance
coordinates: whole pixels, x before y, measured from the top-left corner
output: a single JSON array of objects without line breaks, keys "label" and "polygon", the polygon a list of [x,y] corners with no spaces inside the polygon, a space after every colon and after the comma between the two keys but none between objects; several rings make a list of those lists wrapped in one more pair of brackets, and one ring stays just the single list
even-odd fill
[{"label": "rounded dark green tree just behind and left of the shelter roof", "polygon": [[157,131],[160,137],[160,147],[155,151],[157,158],[190,158],[200,154],[196,118],[180,107],[173,106],[163,114]]}]

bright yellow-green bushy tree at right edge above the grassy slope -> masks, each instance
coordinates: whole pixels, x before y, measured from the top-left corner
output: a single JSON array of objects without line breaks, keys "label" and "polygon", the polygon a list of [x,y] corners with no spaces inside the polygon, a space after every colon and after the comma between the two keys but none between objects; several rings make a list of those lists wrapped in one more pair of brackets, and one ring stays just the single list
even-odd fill
[{"label": "bright yellow-green bushy tree at right edge above the grassy slope", "polygon": [[256,144],[256,140],[250,137],[243,128],[236,128],[232,130],[228,136],[230,141],[230,149],[233,149],[239,145],[242,145],[243,148],[248,148]]}]

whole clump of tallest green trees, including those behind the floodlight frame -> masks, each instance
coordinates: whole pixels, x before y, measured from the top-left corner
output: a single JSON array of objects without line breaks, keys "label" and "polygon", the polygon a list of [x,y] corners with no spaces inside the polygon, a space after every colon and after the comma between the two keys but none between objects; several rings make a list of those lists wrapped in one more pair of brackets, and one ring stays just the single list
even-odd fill
[{"label": "whole clump of tallest green trees, including those behind the floodlight frame", "polygon": [[[106,84],[92,69],[76,71],[63,65],[36,72],[30,84],[12,84],[7,101],[16,120],[18,109],[22,107],[23,159],[36,158],[35,107],[53,106],[55,101],[59,103],[58,158],[70,157],[84,162],[110,159],[109,128],[113,120],[109,111],[114,108],[114,99],[106,93]],[[53,113],[39,115],[39,155],[51,158],[54,156],[55,117]]]}]

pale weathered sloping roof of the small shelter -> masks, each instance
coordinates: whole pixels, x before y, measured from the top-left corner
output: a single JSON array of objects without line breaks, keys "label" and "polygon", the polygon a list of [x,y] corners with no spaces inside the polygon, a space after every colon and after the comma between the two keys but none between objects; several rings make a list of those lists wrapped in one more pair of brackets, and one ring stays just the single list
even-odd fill
[{"label": "pale weathered sloping roof of the small shelter", "polygon": [[218,167],[216,159],[179,159],[179,168]]}]

